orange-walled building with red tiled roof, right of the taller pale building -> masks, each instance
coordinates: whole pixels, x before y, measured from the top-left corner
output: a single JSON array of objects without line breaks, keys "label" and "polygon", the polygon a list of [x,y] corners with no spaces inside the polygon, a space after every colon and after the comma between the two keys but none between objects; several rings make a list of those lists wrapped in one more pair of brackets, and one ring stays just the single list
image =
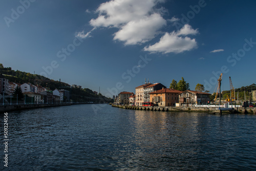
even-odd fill
[{"label": "orange-walled building with red tiled roof, right of the taller pale building", "polygon": [[156,106],[176,106],[179,102],[179,93],[182,91],[162,88],[150,94],[150,102],[154,102]]}]

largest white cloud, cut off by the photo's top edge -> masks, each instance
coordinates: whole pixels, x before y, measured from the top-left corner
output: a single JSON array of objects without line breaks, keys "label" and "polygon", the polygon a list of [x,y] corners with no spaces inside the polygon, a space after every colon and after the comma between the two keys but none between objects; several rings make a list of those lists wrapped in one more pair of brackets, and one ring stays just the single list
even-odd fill
[{"label": "largest white cloud, cut off by the photo's top edge", "polygon": [[123,41],[125,45],[142,44],[155,38],[166,25],[161,16],[164,8],[156,9],[164,0],[112,0],[102,3],[96,10],[96,19],[90,25],[97,27],[116,27],[113,40]]}]

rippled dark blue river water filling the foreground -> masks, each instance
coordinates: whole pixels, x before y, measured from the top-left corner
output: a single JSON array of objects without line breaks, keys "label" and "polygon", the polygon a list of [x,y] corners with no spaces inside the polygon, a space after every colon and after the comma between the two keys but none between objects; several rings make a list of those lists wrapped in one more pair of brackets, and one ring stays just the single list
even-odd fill
[{"label": "rippled dark blue river water filling the foreground", "polygon": [[5,170],[256,170],[255,115],[81,104],[8,119]]}]

